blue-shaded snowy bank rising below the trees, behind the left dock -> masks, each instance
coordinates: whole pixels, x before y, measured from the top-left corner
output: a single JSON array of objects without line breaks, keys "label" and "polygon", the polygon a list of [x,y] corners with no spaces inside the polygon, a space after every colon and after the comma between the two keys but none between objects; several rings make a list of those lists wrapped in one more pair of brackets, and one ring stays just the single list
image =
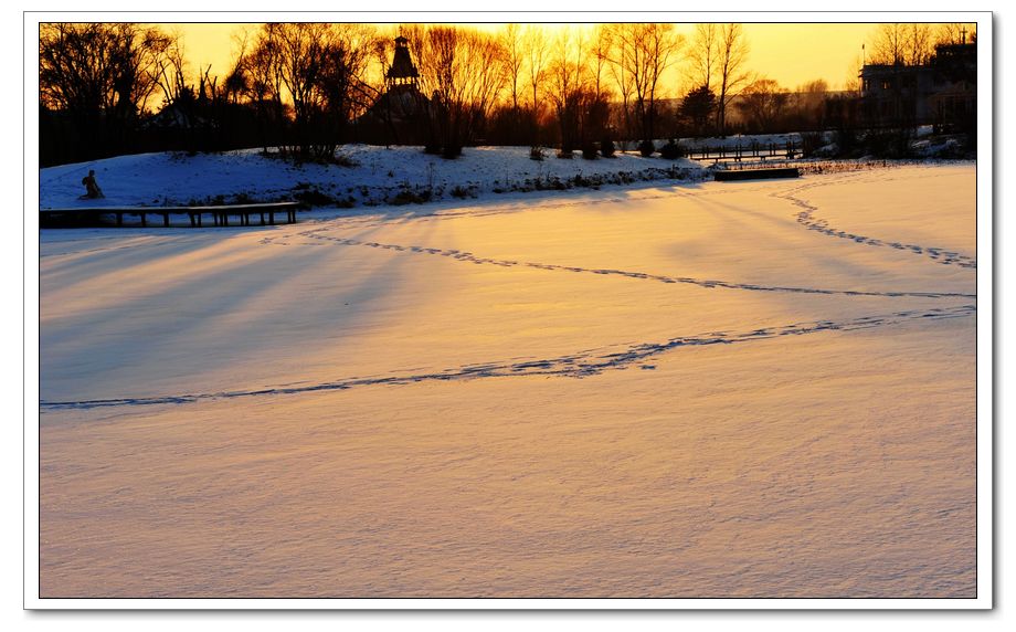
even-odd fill
[{"label": "blue-shaded snowy bank rising below the trees, behind the left dock", "polygon": [[[301,200],[317,208],[361,208],[463,200],[532,191],[708,178],[691,160],[618,152],[584,160],[547,150],[532,160],[528,147],[467,148],[456,160],[419,147],[351,145],[347,166],[296,164],[258,149],[221,154],[140,154],[40,170],[40,208],[87,206],[194,206]],[[104,200],[81,200],[81,179],[94,169]]]}]

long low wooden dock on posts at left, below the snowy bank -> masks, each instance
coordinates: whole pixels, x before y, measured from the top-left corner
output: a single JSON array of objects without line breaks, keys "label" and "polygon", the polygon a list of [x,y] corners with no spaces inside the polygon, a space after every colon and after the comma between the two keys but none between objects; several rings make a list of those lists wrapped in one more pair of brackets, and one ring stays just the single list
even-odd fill
[{"label": "long low wooden dock on posts at left, below the snowy bank", "polygon": [[[261,202],[252,204],[226,204],[216,207],[77,207],[64,209],[40,209],[40,227],[81,225],[96,222],[102,215],[116,215],[116,225],[124,225],[124,215],[141,218],[141,225],[148,225],[148,215],[162,218],[162,225],[169,225],[170,215],[188,215],[190,225],[204,225],[204,215],[211,215],[213,225],[230,225],[230,217],[239,220],[236,225],[251,225],[251,218],[258,215],[261,225],[275,224],[275,214],[286,213],[286,223],[296,223],[299,202]],[[265,221],[267,218],[267,222]]]}]

